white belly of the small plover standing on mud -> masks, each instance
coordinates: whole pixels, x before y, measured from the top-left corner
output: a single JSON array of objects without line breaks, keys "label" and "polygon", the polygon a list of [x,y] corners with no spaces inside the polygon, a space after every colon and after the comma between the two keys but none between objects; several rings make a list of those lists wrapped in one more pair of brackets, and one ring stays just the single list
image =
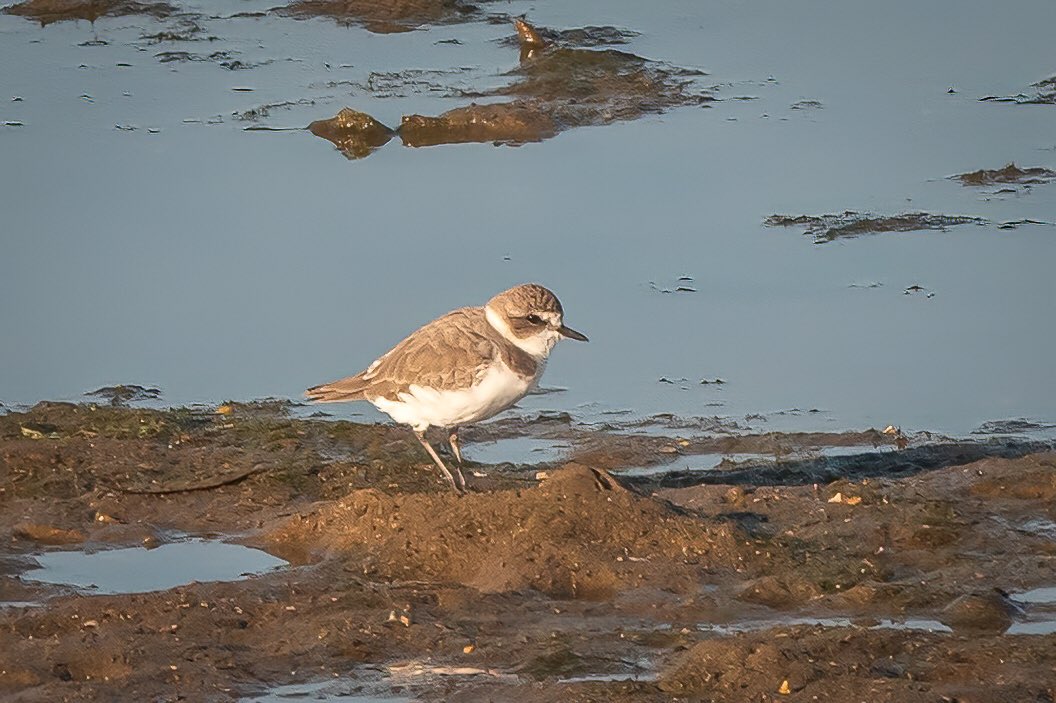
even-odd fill
[{"label": "white belly of the small plover standing on mud", "polygon": [[[542,364],[539,370],[542,372]],[[506,364],[495,363],[479,383],[469,388],[438,391],[414,384],[399,394],[399,400],[371,398],[370,401],[392,419],[415,430],[455,428],[502,413],[524,398],[540,375],[526,378],[514,374]]]}]

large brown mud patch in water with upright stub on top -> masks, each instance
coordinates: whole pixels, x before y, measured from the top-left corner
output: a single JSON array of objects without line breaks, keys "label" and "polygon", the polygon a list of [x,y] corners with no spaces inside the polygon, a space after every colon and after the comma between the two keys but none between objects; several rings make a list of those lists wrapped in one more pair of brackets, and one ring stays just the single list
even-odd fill
[{"label": "large brown mud patch in water with upright stub on top", "polygon": [[507,74],[511,82],[475,94],[460,89],[463,94],[478,98],[512,98],[508,101],[473,102],[437,116],[404,115],[398,129],[345,108],[308,129],[332,141],[345,156],[361,158],[384,144],[379,144],[382,133],[398,135],[408,147],[466,142],[516,146],[577,127],[638,119],[713,99],[692,87],[697,72],[616,50],[583,48],[616,43],[630,36],[612,27],[544,32],[517,20],[515,28],[521,63]]}]

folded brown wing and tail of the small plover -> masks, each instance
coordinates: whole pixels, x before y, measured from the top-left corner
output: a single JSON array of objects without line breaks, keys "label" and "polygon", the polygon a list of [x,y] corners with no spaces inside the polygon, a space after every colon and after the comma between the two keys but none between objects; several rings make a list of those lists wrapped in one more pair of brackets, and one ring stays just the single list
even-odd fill
[{"label": "folded brown wing and tail of the small plover", "polygon": [[355,376],[308,388],[310,400],[341,402],[378,396],[397,400],[412,383],[437,390],[476,383],[499,357],[484,308],[448,312],[419,328]]}]

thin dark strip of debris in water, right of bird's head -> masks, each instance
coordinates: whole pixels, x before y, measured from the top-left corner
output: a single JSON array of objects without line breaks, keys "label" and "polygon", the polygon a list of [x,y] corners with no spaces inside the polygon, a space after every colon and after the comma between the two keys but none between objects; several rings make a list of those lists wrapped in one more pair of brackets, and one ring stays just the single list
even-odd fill
[{"label": "thin dark strip of debris in water, right of bird's head", "polygon": [[767,227],[803,227],[804,234],[814,238],[814,244],[880,232],[912,232],[918,230],[947,231],[959,225],[986,225],[982,217],[907,212],[898,215],[873,215],[854,210],[824,215],[770,215]]}]

